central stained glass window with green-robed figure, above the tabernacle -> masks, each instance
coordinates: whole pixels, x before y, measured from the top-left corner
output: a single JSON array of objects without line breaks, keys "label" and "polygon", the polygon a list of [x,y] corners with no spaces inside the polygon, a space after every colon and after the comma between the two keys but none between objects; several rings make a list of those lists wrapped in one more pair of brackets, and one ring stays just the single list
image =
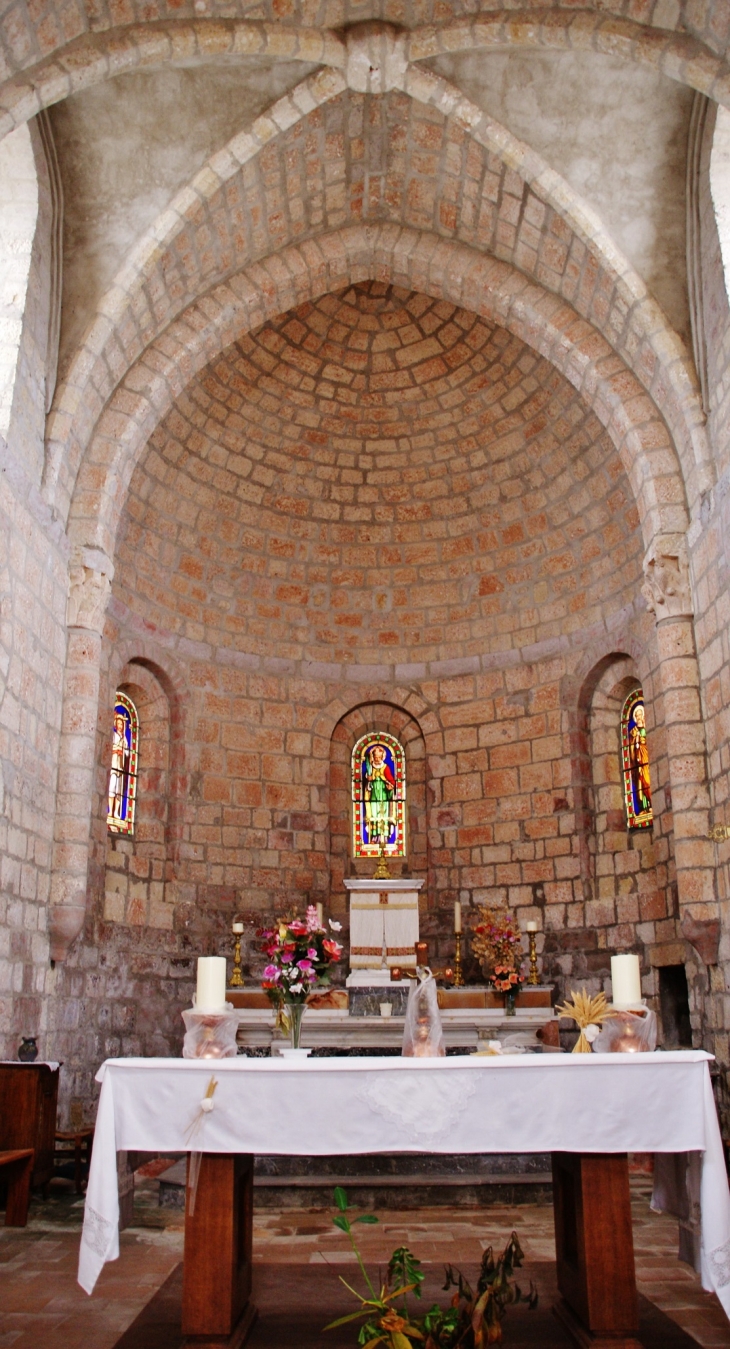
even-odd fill
[{"label": "central stained glass window with green-robed figure, above the tabernacle", "polygon": [[368,731],[352,750],[352,853],[406,855],[406,757],[386,731]]}]

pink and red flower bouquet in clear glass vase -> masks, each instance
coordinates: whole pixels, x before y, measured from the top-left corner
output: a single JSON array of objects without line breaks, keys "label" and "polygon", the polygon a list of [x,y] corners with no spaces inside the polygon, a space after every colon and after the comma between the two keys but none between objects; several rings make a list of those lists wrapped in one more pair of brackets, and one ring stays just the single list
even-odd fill
[{"label": "pink and red flower bouquet in clear glass vase", "polygon": [[[331,919],[329,928],[339,932],[341,924]],[[277,1025],[290,1036],[291,1048],[298,1050],[306,998],[340,959],[343,948],[320,927],[313,904],[306,917],[282,919],[275,928],[262,928],[259,938],[269,958],[262,989],[277,1009]]]}]

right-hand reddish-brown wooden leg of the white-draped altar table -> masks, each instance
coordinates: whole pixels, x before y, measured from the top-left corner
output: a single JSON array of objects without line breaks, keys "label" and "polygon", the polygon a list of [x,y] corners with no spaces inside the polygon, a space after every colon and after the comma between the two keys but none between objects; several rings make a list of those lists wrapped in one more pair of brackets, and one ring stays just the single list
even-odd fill
[{"label": "right-hand reddish-brown wooden leg of the white-draped altar table", "polygon": [[553,1152],[555,1314],[580,1349],[641,1349],[626,1153]]}]

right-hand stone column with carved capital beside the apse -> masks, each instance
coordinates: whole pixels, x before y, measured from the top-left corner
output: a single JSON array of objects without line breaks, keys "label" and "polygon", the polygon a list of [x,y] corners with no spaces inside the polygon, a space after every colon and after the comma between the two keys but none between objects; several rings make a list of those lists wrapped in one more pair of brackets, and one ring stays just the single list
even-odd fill
[{"label": "right-hand stone column with carved capital beside the apse", "polygon": [[[681,536],[660,536],[644,561],[644,598],[657,625],[658,672],[672,789],[675,863],[683,932],[698,946],[717,924],[707,747],[699,693],[690,567]],[[694,935],[692,935],[694,934]],[[702,943],[700,943],[702,944]],[[706,963],[707,954],[703,955]]]}]

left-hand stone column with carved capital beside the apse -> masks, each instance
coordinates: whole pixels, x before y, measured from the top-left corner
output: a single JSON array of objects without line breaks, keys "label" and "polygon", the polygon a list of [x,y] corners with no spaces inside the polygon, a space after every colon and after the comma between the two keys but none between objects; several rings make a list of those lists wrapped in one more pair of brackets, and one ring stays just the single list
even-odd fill
[{"label": "left-hand stone column with carved capital beside the apse", "polygon": [[113,565],[100,549],[74,554],[51,867],[50,954],[65,960],[86,915],[86,877],[96,772],[101,633]]}]

